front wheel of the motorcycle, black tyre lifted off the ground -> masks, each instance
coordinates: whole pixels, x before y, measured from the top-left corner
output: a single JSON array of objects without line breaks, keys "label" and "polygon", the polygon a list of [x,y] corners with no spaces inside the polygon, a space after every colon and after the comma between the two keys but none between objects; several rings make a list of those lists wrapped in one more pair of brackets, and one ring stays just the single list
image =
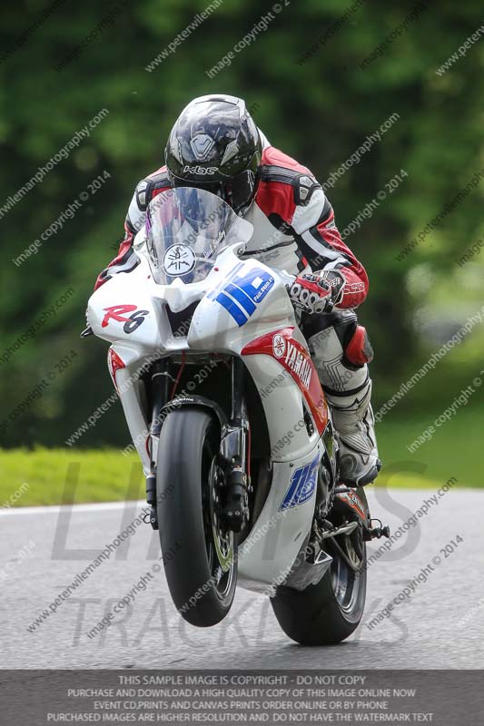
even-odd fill
[{"label": "front wheel of the motorcycle, black tyre lifted off the ground", "polygon": [[179,613],[209,627],[229,612],[237,583],[235,540],[219,516],[220,426],[202,408],[183,407],[163,422],[156,501],[164,573]]}]

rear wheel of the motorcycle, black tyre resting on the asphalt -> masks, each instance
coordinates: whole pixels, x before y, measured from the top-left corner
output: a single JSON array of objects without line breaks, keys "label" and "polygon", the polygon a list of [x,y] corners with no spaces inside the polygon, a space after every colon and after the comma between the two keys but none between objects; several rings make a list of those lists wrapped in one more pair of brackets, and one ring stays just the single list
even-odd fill
[{"label": "rear wheel of the motorcycle, black tyre resting on the asphalt", "polygon": [[[366,496],[357,490],[365,511]],[[282,630],[302,645],[341,643],[358,627],[366,598],[366,544],[359,525],[350,535],[326,540],[331,567],[301,592],[279,587],[272,608]],[[342,551],[342,554],[341,554]]]}]

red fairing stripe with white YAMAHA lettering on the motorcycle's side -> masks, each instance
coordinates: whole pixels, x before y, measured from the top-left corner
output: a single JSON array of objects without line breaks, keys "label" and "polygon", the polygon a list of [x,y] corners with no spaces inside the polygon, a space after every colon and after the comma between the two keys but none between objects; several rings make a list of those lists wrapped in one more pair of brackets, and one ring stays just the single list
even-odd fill
[{"label": "red fairing stripe with white YAMAHA lettering on the motorcycle's side", "polygon": [[322,434],[328,424],[328,405],[311,356],[299,340],[292,337],[293,330],[282,328],[255,338],[242,348],[242,356],[264,355],[277,360],[301,388],[316,428]]}]

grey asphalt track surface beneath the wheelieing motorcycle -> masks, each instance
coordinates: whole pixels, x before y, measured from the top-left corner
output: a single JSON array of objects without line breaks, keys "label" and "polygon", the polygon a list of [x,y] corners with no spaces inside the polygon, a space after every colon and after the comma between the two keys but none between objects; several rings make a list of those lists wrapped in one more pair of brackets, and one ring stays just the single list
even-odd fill
[{"label": "grey asphalt track surface beneath the wheelieing motorcycle", "polygon": [[[34,627],[35,618],[142,505],[2,510],[0,667],[483,668],[484,492],[455,486],[407,529],[403,523],[435,494],[369,487],[371,514],[394,533],[403,526],[406,531],[401,529],[390,551],[370,564],[360,627],[345,643],[324,648],[292,643],[269,600],[241,588],[223,623],[203,630],[184,623],[171,602],[163,567],[153,574],[160,552],[149,525],[137,527],[84,581],[77,578],[74,593]],[[446,550],[452,540],[455,545]],[[369,554],[384,542],[373,541]],[[428,575],[421,574],[423,568]],[[409,591],[410,581],[410,596],[400,595],[375,624],[403,588]],[[136,584],[133,604],[89,638],[86,633]]]}]

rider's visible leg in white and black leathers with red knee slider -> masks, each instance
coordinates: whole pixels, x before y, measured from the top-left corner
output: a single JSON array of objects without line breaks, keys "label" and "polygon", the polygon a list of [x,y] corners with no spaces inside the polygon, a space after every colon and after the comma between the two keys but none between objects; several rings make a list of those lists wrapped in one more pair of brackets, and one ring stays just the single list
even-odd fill
[{"label": "rider's visible leg in white and black leathers with red knee slider", "polygon": [[373,351],[353,310],[307,315],[302,330],[340,435],[341,482],[369,484],[380,469],[367,364]]}]

